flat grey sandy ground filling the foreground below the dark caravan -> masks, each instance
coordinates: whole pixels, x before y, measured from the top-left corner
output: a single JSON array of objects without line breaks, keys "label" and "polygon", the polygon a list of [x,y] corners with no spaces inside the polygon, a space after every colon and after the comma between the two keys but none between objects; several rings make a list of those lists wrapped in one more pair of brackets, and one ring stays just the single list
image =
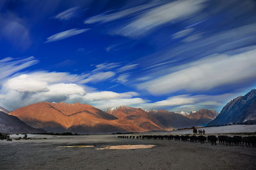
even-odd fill
[{"label": "flat grey sandy ground filling the foreground below the dark caravan", "polygon": [[[47,139],[40,139],[46,137]],[[138,150],[97,150],[152,144]],[[58,146],[94,146],[60,148]],[[117,135],[33,135],[0,141],[0,169],[255,169],[256,148],[180,141],[118,139]]]}]

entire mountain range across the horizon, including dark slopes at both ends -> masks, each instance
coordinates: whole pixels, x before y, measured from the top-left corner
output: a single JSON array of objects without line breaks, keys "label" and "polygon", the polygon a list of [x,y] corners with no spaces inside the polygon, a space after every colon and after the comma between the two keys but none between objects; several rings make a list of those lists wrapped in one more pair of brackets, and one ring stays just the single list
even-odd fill
[{"label": "entire mountain range across the horizon, including dark slopes at both ends", "polygon": [[102,111],[88,104],[40,102],[8,112],[0,107],[0,132],[113,132],[164,131],[173,128],[256,123],[256,89],[234,98],[221,110],[200,109],[189,113],[147,111],[120,106]]}]

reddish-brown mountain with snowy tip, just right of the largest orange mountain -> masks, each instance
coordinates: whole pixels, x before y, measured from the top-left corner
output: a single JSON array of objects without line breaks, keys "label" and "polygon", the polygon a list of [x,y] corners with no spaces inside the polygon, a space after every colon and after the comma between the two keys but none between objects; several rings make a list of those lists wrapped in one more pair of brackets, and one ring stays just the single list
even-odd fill
[{"label": "reddish-brown mountain with snowy tip, just right of the largest orange mountain", "polygon": [[164,130],[163,125],[148,112],[134,107],[120,106],[119,108],[108,109],[106,112],[112,114],[120,121],[131,122],[140,131]]}]

